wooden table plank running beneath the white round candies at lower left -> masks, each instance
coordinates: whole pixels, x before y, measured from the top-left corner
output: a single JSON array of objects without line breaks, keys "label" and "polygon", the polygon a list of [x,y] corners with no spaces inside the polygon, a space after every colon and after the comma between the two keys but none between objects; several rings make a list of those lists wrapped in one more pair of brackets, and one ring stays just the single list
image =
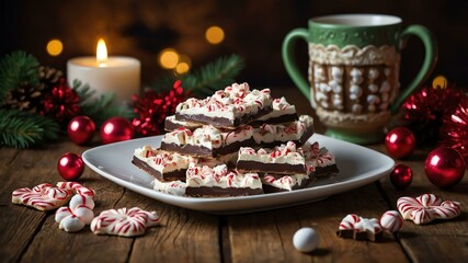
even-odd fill
[{"label": "wooden table plank running beneath the white round candies at lower left", "polygon": [[[94,214],[114,207],[125,195],[123,187],[102,179],[89,169],[79,182],[96,191]],[[132,250],[132,238],[95,236],[89,226],[78,233],[67,233],[58,229],[52,213],[41,231],[32,240],[22,256],[23,262],[47,262],[50,254],[54,260],[66,262],[126,262]]]}]

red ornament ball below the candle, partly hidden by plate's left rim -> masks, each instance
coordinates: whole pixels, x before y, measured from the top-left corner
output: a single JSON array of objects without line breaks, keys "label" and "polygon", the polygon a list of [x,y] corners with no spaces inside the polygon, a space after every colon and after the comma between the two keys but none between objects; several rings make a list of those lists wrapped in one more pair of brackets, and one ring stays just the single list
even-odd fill
[{"label": "red ornament ball below the candle, partly hidden by plate's left rim", "polygon": [[112,117],[101,126],[101,142],[112,144],[134,138],[135,130],[130,121],[124,117]]}]

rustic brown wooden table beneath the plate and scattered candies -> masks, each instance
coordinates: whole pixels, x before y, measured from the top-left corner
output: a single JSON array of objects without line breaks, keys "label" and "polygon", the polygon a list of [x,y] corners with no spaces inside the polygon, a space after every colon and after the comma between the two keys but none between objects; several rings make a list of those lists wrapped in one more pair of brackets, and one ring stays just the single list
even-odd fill
[{"label": "rustic brown wooden table beneath the plate and scattered candies", "polygon": [[[312,112],[295,89],[275,89],[273,94],[285,95],[301,114]],[[319,123],[316,127],[323,130]],[[368,147],[386,152],[384,145]],[[57,160],[67,151],[81,153],[88,148],[62,138],[37,149],[0,149],[0,262],[466,262],[468,259],[468,175],[450,191],[438,190],[425,178],[423,163],[427,151],[423,150],[409,160],[398,161],[411,167],[414,174],[411,186],[404,191],[395,190],[386,176],[321,202],[235,216],[165,205],[121,187],[87,168],[79,182],[98,192],[95,214],[138,206],[161,215],[161,226],[147,229],[138,238],[95,236],[88,227],[78,233],[67,233],[58,229],[54,211],[37,211],[11,203],[11,193],[16,188],[62,181],[57,173]],[[406,221],[398,235],[385,236],[381,242],[341,239],[335,235],[347,214],[379,218],[385,211],[396,209],[400,196],[423,193],[460,202],[461,215],[426,226]],[[310,254],[293,247],[293,235],[301,227],[312,227],[321,237],[319,248]]]}]

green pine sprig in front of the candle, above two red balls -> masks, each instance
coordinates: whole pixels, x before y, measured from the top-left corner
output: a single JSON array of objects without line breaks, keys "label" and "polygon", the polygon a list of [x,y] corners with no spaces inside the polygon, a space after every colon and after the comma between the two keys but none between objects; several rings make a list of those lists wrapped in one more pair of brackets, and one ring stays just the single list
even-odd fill
[{"label": "green pine sprig in front of the candle, above two red balls", "polygon": [[81,114],[92,118],[98,127],[110,117],[134,117],[134,113],[128,105],[114,103],[115,94],[112,92],[101,94],[100,98],[93,99],[95,90],[91,90],[89,84],[82,85],[81,81],[73,80],[71,88],[80,96]]}]

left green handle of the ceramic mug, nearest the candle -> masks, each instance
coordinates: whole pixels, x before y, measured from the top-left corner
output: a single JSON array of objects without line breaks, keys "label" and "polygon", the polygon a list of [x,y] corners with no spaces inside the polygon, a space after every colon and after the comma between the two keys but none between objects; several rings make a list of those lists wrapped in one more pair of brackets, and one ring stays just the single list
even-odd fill
[{"label": "left green handle of the ceramic mug, nearest the candle", "polygon": [[[310,94],[311,89],[306,81],[306,79],[303,77],[303,75],[299,71],[299,68],[297,67],[297,62],[295,59],[294,54],[294,47],[296,42],[301,38],[308,43],[308,36],[309,32],[306,28],[296,28],[289,32],[286,37],[283,41],[283,64],[286,68],[287,73],[293,79],[294,83],[299,88],[299,90],[303,92],[303,94],[309,100],[313,94]],[[313,106],[313,105],[312,105]]]}]

